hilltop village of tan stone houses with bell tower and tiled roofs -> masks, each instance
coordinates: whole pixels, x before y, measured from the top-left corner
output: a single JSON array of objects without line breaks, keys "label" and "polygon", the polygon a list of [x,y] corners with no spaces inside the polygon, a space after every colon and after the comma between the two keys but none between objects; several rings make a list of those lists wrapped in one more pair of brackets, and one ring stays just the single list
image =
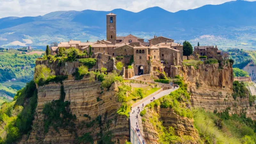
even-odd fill
[{"label": "hilltop village of tan stone houses with bell tower and tiled roofs", "polygon": [[[70,40],[60,42],[58,46],[51,47],[51,55],[57,55],[60,48],[65,50],[70,48],[79,49],[82,52],[91,53],[91,58],[100,60],[97,68],[107,68],[110,59],[123,57],[126,66],[133,59],[133,70],[128,70],[126,78],[132,76],[152,74],[153,71],[165,72],[171,76],[171,66],[181,66],[183,62],[183,45],[174,43],[174,40],[164,36],[154,36],[148,42],[143,38],[133,35],[116,36],[116,14],[107,14],[107,39],[96,42],[81,42]],[[208,56],[213,58],[220,55],[217,46],[195,46],[193,55]],[[84,57],[81,57],[84,58]],[[197,58],[198,59],[198,58]],[[153,69],[148,67],[149,61],[153,62]],[[108,68],[109,71],[113,68]]]}]

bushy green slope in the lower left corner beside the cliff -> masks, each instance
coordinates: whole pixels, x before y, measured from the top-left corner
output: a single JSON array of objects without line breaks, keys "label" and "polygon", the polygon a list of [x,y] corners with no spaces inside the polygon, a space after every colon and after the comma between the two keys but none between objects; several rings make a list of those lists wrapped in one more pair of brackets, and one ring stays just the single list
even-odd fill
[{"label": "bushy green slope in the lower left corner beside the cliff", "polygon": [[[26,104],[25,104],[26,103]],[[12,143],[23,134],[28,134],[34,120],[37,106],[37,89],[34,81],[17,92],[13,102],[4,103],[0,110],[0,123],[3,129],[0,143]]]}]

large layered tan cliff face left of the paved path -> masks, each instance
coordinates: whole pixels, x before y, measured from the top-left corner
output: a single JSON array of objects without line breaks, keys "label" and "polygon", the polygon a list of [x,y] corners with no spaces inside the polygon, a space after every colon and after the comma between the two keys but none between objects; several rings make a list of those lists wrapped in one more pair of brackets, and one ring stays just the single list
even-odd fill
[{"label": "large layered tan cliff face left of the paved path", "polygon": [[[102,90],[100,82],[90,82],[89,78],[75,81],[74,77],[68,76],[62,83],[66,93],[65,101],[70,101],[70,111],[76,115],[75,126],[68,129],[59,129],[56,132],[53,127],[49,127],[49,132],[44,133],[44,114],[42,114],[44,104],[52,100],[59,100],[61,95],[61,84],[50,83],[38,87],[38,104],[36,108],[33,130],[29,137],[23,137],[20,143],[48,144],[48,143],[77,143],[76,139],[84,133],[90,132],[94,142],[99,137],[98,133],[111,132],[115,143],[125,143],[129,139],[129,123],[126,116],[116,114],[121,103],[116,101],[116,91],[118,83],[113,83],[109,90]],[[97,98],[99,99],[97,100]],[[90,118],[85,115],[90,116]],[[101,124],[95,122],[91,127],[85,124],[92,122],[101,116]],[[75,129],[74,132],[69,132]],[[27,140],[26,140],[27,139]]]}]

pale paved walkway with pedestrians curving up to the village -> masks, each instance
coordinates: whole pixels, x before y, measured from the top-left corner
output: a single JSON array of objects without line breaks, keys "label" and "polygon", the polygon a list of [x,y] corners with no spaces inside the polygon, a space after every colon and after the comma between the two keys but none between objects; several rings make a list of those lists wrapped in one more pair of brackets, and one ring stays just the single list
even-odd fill
[{"label": "pale paved walkway with pedestrians curving up to the village", "polygon": [[[155,97],[155,100],[156,99],[159,99],[159,98],[161,98],[161,97],[163,97],[163,96],[165,96],[165,95],[168,95],[170,92],[173,92],[173,91],[175,91],[175,90],[177,90],[179,87],[175,87],[175,89],[174,88],[171,88],[171,89],[169,89],[169,90],[164,90],[164,91],[162,91],[162,92],[159,92],[158,94],[156,94],[154,97]],[[147,97],[146,97],[147,98]],[[137,124],[138,124],[138,128],[139,127],[142,127],[142,126],[139,126],[139,121],[138,121],[138,119],[137,119],[137,115],[138,115],[138,118],[139,118],[139,114],[140,113],[138,113],[139,112],[139,109],[138,109],[138,107],[140,107],[140,112],[141,112],[141,110],[143,110],[143,108],[145,108],[145,106],[147,105],[147,104],[149,104],[151,101],[150,100],[153,100],[153,98],[151,98],[151,99],[146,99],[146,98],[144,98],[144,99],[142,99],[142,103],[140,103],[140,101],[139,102],[137,102],[137,103],[140,103],[138,106],[136,106],[135,108],[132,108],[132,110],[131,110],[131,112],[130,112],[130,123],[131,123],[131,127],[132,128],[134,128],[134,130],[135,130],[135,128],[137,128],[137,125],[136,125],[136,122],[137,122]],[[145,100],[145,101],[144,101]],[[136,104],[137,104],[136,103]],[[144,104],[144,107],[142,108],[142,104]],[[135,113],[133,113],[133,110],[135,111]],[[136,134],[137,134],[137,136],[138,136],[138,134],[139,133],[137,133],[136,132]],[[142,134],[142,133],[140,133],[140,134]],[[140,141],[142,142],[142,140],[143,140],[143,137],[142,136],[140,136],[139,137],[139,139],[140,139]]]}]

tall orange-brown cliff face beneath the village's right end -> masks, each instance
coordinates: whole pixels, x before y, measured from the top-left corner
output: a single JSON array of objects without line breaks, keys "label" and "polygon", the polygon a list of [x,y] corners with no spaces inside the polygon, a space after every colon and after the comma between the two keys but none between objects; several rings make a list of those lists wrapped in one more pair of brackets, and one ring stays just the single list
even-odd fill
[{"label": "tall orange-brown cliff face beneath the village's right end", "polygon": [[208,111],[224,111],[230,107],[230,114],[240,114],[243,110],[247,117],[256,119],[255,104],[250,107],[249,95],[246,98],[236,98],[233,93],[233,68],[227,63],[223,69],[219,64],[200,65],[198,69],[193,66],[183,66],[180,75],[188,84],[191,93],[190,101],[193,107],[205,108]]}]

